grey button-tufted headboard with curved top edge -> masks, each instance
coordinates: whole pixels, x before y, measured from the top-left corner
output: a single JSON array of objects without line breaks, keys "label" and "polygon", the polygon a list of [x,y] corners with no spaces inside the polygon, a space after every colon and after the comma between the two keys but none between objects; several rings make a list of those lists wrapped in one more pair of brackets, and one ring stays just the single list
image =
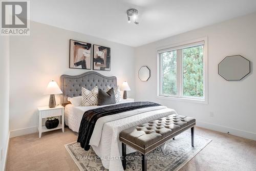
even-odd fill
[{"label": "grey button-tufted headboard with curved top edge", "polygon": [[116,77],[106,77],[97,72],[89,71],[81,75],[61,75],[60,89],[63,94],[60,94],[60,103],[67,104],[68,97],[81,96],[82,87],[92,90],[95,86],[106,90],[108,86],[117,87]]}]

